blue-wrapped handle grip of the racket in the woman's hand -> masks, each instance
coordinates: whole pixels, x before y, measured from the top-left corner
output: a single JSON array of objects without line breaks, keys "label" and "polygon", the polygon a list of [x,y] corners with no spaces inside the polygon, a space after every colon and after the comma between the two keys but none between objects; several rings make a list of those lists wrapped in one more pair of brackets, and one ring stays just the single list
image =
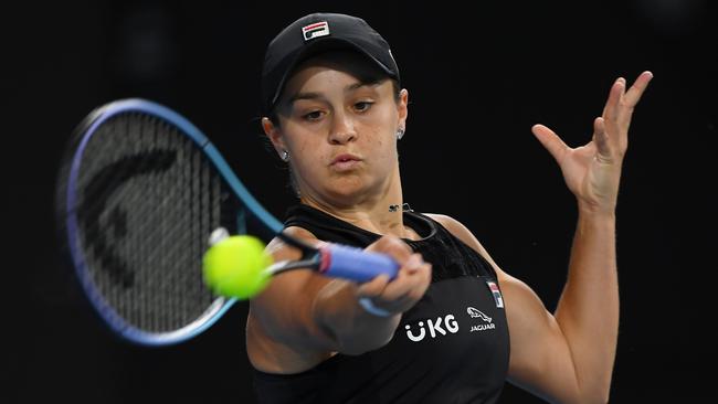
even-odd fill
[{"label": "blue-wrapped handle grip of the racket in the woman's hand", "polygon": [[331,277],[367,281],[382,274],[393,279],[399,272],[399,264],[389,255],[381,253],[338,244],[326,244],[319,248],[319,253],[321,254],[319,272]]}]

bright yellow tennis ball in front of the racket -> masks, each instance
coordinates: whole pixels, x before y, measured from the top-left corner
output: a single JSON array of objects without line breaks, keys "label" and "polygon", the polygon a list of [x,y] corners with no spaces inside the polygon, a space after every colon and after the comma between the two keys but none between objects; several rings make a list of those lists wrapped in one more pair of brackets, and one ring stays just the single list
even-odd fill
[{"label": "bright yellow tennis ball in front of the racket", "polygon": [[272,257],[264,243],[250,235],[234,235],[213,244],[202,259],[204,284],[215,294],[249,299],[262,291],[271,276],[264,269]]}]

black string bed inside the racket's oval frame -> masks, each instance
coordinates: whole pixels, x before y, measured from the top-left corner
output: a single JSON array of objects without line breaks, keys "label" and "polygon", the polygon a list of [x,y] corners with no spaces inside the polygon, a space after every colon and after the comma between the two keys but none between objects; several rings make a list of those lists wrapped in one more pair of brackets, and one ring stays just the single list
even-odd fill
[{"label": "black string bed inside the racket's oval frame", "polygon": [[223,184],[175,127],[128,115],[99,129],[83,159],[78,210],[93,222],[83,234],[87,266],[129,325],[177,330],[214,300],[200,265],[207,236],[225,220]]}]

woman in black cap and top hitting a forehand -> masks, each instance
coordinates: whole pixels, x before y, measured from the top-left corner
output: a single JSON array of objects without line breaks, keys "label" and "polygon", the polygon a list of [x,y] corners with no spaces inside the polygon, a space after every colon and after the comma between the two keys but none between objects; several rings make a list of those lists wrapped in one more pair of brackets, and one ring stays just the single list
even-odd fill
[{"label": "woman in black cap and top hitting a forehand", "polygon": [[[285,28],[266,51],[262,125],[298,195],[286,232],[386,253],[400,269],[363,284],[312,270],[273,278],[251,300],[246,326],[258,401],[495,403],[508,380],[550,402],[606,402],[619,327],[616,196],[633,109],[652,76],[613,83],[582,147],[531,129],[579,212],[568,280],[549,312],[457,220],[404,204],[397,145],[409,93],[382,36],[345,14]],[[278,240],[267,248],[298,258]]]}]

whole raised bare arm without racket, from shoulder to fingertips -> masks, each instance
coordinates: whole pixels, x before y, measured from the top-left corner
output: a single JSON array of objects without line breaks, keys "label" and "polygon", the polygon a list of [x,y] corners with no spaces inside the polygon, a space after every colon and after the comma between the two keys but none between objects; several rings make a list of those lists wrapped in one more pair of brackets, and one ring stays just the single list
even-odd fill
[{"label": "whole raised bare arm without racket, from shoulder to fingertips", "polygon": [[466,227],[442,217],[498,274],[511,343],[509,381],[550,402],[609,400],[619,330],[615,204],[631,116],[652,77],[642,73],[627,91],[625,81],[616,79],[593,139],[582,147],[568,147],[545,126],[532,128],[579,206],[568,279],[553,315],[530,287],[503,272]]}]

